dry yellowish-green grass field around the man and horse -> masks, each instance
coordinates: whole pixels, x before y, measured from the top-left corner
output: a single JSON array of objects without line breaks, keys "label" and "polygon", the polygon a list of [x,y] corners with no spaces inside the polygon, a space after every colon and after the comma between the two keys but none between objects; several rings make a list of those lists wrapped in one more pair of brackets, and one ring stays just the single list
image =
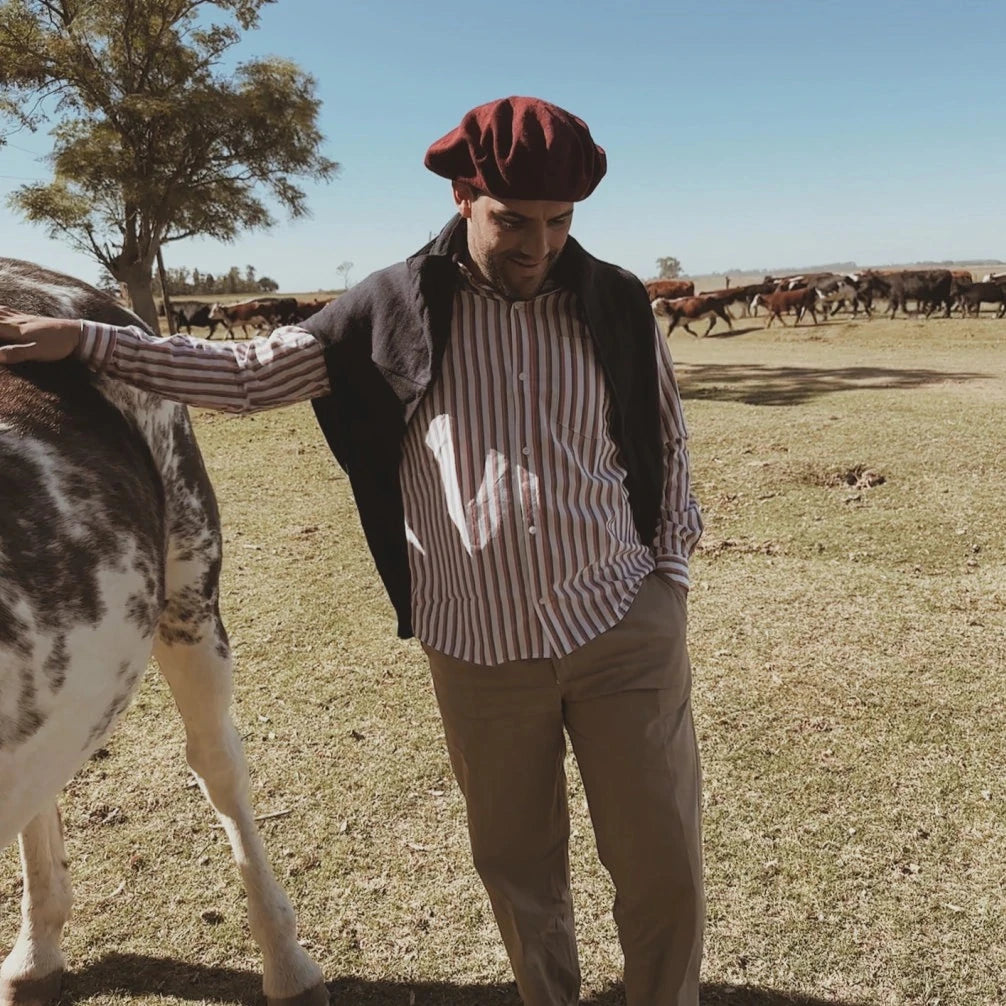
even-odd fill
[{"label": "dry yellowish-green grass field around the man and horse", "polygon": [[[1002,1003],[1006,322],[761,325],[671,336],[707,527],[703,1003]],[[422,652],[310,407],[195,422],[256,806],[283,815],[263,829],[334,1001],[516,1004]],[[66,1003],[258,1001],[172,712],[151,672],[62,801]],[[584,1000],[615,1006],[612,890],[569,773]],[[19,889],[8,850],[0,945]]]}]

